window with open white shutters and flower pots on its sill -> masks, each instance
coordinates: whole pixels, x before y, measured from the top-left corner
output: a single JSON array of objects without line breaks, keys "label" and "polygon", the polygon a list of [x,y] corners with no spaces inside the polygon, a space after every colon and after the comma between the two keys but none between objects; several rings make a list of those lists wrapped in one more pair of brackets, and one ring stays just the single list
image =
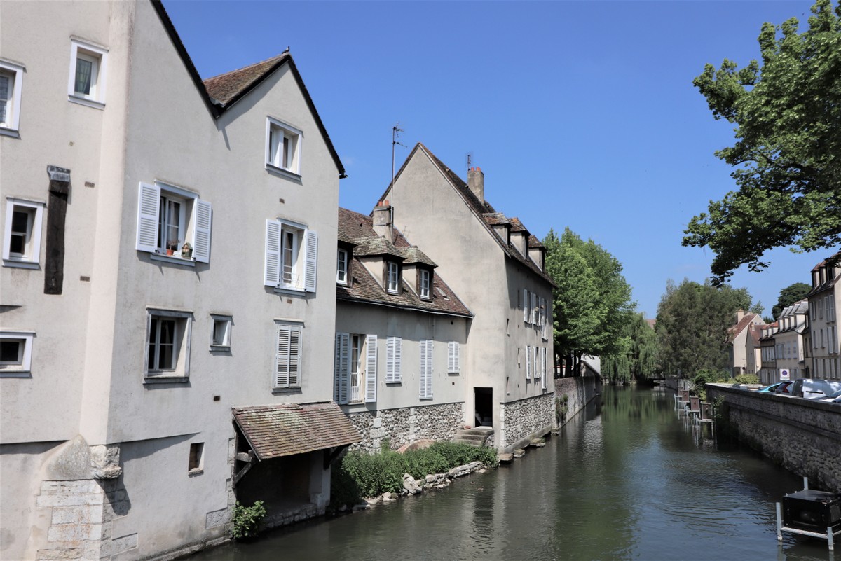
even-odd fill
[{"label": "window with open white shutters and flower pots on its sill", "polygon": [[196,193],[166,183],[140,183],[135,249],[182,265],[210,262],[213,209]]}]

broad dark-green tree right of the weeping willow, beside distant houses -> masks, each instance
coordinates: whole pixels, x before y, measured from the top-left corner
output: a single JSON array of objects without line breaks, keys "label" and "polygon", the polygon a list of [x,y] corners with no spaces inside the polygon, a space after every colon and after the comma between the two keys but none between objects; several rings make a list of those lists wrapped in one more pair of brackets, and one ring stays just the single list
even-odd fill
[{"label": "broad dark-green tree right of the weeping willow, beside distant houses", "polygon": [[666,284],[657,307],[659,362],[670,375],[693,377],[699,370],[729,370],[728,330],[736,312],[751,307],[748,291],[684,280]]}]

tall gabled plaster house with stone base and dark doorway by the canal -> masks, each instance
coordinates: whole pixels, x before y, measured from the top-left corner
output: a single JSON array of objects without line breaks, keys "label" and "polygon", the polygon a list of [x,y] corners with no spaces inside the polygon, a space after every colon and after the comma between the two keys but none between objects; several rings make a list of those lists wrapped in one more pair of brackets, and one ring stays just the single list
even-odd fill
[{"label": "tall gabled plaster house with stone base and dark doorway by the canal", "polygon": [[553,424],[553,282],[542,244],[485,200],[483,172],[469,170],[468,183],[417,144],[380,201],[473,312],[465,422],[494,427],[495,446],[510,450]]}]

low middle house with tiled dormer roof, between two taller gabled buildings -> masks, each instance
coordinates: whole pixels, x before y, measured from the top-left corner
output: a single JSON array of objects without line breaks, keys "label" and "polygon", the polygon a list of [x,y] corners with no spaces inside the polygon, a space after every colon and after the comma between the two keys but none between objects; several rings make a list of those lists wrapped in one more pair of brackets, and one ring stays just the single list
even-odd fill
[{"label": "low middle house with tiled dormer roof, between two taller gabled buildings", "polygon": [[450,440],[464,424],[473,314],[437,265],[393,226],[339,209],[334,401],[377,452],[387,440]]}]

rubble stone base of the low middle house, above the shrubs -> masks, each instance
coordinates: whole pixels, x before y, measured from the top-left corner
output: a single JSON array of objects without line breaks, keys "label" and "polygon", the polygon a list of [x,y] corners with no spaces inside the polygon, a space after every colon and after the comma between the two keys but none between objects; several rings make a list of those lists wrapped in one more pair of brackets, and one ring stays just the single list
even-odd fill
[{"label": "rubble stone base of the low middle house, above the shrubs", "polygon": [[352,412],[348,417],[362,435],[362,442],[351,449],[373,454],[380,449],[384,438],[389,439],[389,447],[393,449],[425,438],[451,440],[464,422],[464,403]]}]

